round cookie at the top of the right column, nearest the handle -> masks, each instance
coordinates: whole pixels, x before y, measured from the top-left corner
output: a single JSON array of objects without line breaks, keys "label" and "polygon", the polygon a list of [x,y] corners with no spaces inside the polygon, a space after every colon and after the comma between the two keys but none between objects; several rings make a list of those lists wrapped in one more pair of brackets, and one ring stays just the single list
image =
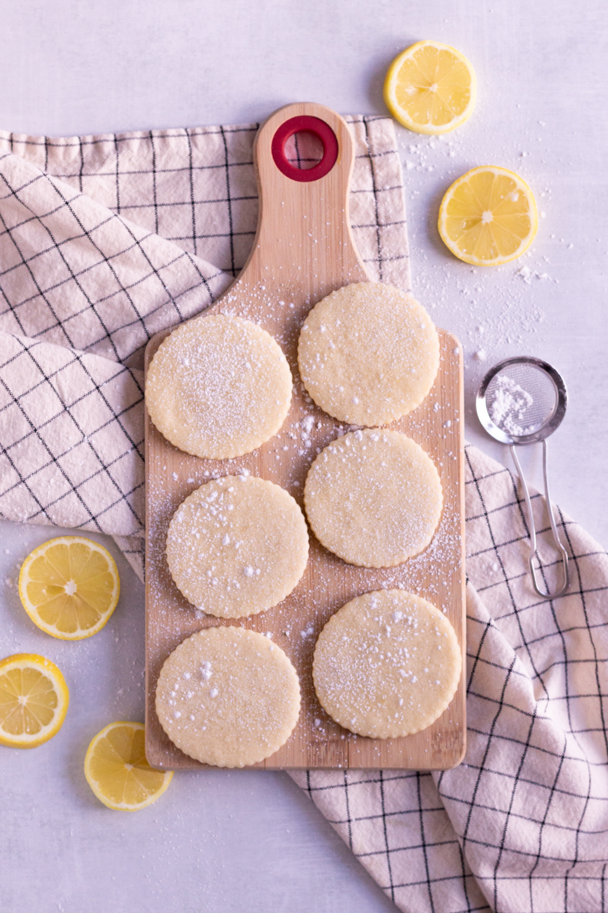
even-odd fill
[{"label": "round cookie at the top of the right column, nearest the handle", "polygon": [[438,335],[416,299],[381,282],[356,282],[315,304],[298,365],[314,402],[351,425],[388,425],[428,394]]}]

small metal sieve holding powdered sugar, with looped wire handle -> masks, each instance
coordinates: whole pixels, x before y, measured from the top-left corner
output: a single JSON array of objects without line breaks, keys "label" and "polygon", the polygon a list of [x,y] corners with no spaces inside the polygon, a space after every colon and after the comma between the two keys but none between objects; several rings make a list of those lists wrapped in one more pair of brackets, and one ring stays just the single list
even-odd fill
[{"label": "small metal sieve holding powdered sugar, with looped wire handle", "polygon": [[[497,441],[510,445],[528,512],[531,545],[528,564],[534,589],[543,599],[557,599],[558,596],[562,596],[568,589],[569,582],[568,553],[560,541],[549,497],[546,441],[562,423],[567,404],[568,392],[562,376],[551,367],[551,364],[527,356],[508,358],[495,364],[481,381],[476,400],[481,425]],[[516,446],[536,444],[538,441],[542,441],[542,474],[553,540],[562,555],[563,584],[556,593],[541,590],[537,580],[534,557],[540,565],[541,558],[537,551],[530,492],[515,449]]]}]

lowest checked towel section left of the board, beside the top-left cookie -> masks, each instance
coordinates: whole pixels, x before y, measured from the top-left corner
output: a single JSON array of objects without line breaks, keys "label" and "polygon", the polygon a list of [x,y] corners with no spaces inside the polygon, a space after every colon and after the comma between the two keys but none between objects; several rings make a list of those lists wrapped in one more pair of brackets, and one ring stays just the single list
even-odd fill
[{"label": "lowest checked towel section left of the board, beside the top-left cookie", "polygon": [[0,513],[141,535],[141,373],[5,332],[0,341]]}]

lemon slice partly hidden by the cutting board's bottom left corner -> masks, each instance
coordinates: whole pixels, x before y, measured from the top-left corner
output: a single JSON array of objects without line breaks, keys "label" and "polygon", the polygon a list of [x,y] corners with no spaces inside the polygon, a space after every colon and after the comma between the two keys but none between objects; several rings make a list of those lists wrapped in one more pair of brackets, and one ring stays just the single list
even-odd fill
[{"label": "lemon slice partly hidden by the cutting board's bottom left corner", "polygon": [[141,723],[109,723],[85,757],[85,776],[99,801],[118,811],[137,812],[155,803],[173,771],[155,771],[146,761]]}]

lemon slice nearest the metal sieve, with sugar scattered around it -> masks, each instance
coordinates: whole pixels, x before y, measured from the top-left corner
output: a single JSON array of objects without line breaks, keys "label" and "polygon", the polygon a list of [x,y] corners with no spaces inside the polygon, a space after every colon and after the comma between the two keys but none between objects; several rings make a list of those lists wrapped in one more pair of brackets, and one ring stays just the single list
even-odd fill
[{"label": "lemon slice nearest the metal sieve, with sugar scattered around it", "polygon": [[530,187],[506,168],[473,168],[448,187],[439,206],[444,243],[456,257],[478,267],[520,257],[538,226]]}]

